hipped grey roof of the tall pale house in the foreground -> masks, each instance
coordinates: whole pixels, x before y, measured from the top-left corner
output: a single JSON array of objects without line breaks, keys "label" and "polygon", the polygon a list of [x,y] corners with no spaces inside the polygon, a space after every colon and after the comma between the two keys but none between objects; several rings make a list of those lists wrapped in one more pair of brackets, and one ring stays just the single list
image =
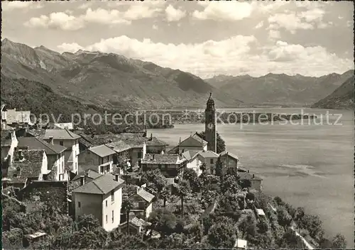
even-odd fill
[{"label": "hipped grey roof of the tall pale house in the foreground", "polygon": [[75,188],[73,193],[93,193],[93,194],[100,194],[104,195],[115,188],[120,186],[124,181],[119,178],[119,181],[115,181],[115,176],[112,174],[104,174],[95,178],[94,180],[90,181],[89,183],[85,183],[84,186],[80,186],[79,188]]}]

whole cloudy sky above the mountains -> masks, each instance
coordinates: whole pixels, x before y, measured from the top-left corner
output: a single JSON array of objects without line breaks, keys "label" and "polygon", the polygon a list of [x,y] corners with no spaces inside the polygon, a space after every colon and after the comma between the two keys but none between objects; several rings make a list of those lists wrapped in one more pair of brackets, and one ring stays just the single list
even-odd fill
[{"label": "whole cloudy sky above the mountains", "polygon": [[354,69],[351,1],[1,2],[2,35],[58,52],[114,52],[202,78]]}]

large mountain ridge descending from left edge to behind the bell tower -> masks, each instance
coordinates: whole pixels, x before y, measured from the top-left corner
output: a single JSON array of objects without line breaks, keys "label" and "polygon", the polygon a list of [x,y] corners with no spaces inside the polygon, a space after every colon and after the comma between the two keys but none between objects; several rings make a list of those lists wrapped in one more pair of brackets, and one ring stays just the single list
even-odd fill
[{"label": "large mountain ridge descending from left edge to behind the bell tower", "polygon": [[114,53],[79,50],[60,54],[4,39],[1,54],[4,76],[38,81],[88,104],[108,108],[202,106],[209,91],[218,106],[242,103],[193,74]]}]

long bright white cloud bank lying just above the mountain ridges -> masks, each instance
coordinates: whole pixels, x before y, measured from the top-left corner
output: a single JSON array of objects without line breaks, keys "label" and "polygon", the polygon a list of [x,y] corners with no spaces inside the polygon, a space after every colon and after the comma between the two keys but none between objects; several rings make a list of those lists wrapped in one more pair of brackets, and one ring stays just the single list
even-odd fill
[{"label": "long bright white cloud bank lying just above the mountain ridges", "polygon": [[275,41],[271,46],[261,47],[262,53],[256,55],[251,50],[255,42],[253,36],[237,35],[226,40],[174,45],[120,36],[103,39],[87,47],[77,43],[64,43],[58,49],[71,52],[80,49],[114,52],[201,77],[213,74],[258,76],[270,71],[318,76],[328,72],[342,73],[353,65],[351,59],[337,57],[324,47],[305,47],[281,40]]}]

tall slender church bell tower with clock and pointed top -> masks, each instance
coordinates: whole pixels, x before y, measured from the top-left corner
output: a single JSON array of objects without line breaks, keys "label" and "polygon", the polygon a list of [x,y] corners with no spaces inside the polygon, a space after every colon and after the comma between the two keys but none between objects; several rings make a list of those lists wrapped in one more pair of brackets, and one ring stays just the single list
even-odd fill
[{"label": "tall slender church bell tower with clock and pointed top", "polygon": [[212,92],[209,92],[206,110],[204,110],[204,135],[206,137],[207,149],[217,152],[217,130],[216,130],[216,109]]}]

